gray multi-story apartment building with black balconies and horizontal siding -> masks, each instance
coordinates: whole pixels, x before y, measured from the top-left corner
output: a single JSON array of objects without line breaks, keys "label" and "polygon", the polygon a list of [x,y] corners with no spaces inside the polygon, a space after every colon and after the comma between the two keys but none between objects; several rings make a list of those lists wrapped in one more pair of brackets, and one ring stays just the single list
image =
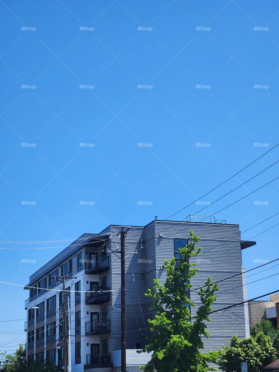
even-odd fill
[{"label": "gray multi-story apartment building with black balconies and horizontal siding", "polygon": [[[162,269],[164,259],[177,257],[178,247],[184,247],[189,230],[201,237],[202,251],[193,262],[198,273],[193,278],[193,289],[200,287],[208,276],[212,281],[225,279],[219,285],[217,302],[213,310],[247,299],[246,278],[243,273],[241,250],[255,242],[242,241],[239,225],[225,221],[178,222],[155,219],[146,226],[129,227],[126,236],[126,362],[127,371],[138,371],[150,355],[138,354],[148,343],[150,299],[144,296],[153,288],[153,280],[166,279]],[[110,225],[99,234],[83,234],[61,251],[41,269],[31,275],[25,289],[29,298],[27,310],[26,355],[28,363],[35,359],[52,360],[64,364],[63,348],[63,292],[53,276],[75,276],[66,279],[69,297],[71,372],[116,372],[121,365],[121,225]],[[30,288],[31,287],[31,288]],[[196,308],[199,307],[196,291],[190,292]],[[231,311],[216,312],[208,323],[209,339],[204,351],[218,350],[237,334],[249,335],[248,308],[238,306]],[[61,349],[57,349],[57,343]]]}]

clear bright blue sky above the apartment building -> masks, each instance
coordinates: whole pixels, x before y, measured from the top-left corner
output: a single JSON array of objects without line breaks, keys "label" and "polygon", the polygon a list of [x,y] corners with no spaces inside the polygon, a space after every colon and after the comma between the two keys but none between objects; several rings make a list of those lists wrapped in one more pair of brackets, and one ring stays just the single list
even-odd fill
[{"label": "clear bright blue sky above the apartment building", "polygon": [[[3,0],[0,9],[3,241],[74,239],[109,224],[167,218],[278,142],[277,1]],[[277,159],[278,148],[201,202]],[[214,214],[277,174],[275,164],[203,213]],[[247,230],[278,212],[278,185],[216,217]],[[200,208],[193,204],[173,218]],[[256,240],[243,251],[247,269],[258,265],[254,260],[278,258],[278,227]],[[28,283],[61,249],[1,250],[0,280]],[[28,292],[0,288],[1,321],[25,319]],[[248,298],[276,289],[273,276],[248,285]],[[0,323],[1,350],[15,349],[23,325]]]}]

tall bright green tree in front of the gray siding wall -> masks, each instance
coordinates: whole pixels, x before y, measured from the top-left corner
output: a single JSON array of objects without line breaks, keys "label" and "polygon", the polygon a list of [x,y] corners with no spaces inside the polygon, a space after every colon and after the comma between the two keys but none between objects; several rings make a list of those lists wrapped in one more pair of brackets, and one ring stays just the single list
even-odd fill
[{"label": "tall bright green tree in front of the gray siding wall", "polygon": [[216,354],[202,354],[200,349],[203,349],[201,335],[209,337],[204,321],[210,321],[210,318],[205,314],[212,310],[211,305],[217,299],[215,291],[218,286],[208,277],[205,287],[197,292],[202,305],[196,311],[197,317],[192,318],[191,322],[189,307],[196,305],[189,299],[189,290],[192,287],[190,280],[198,269],[195,268],[196,263],[189,263],[189,259],[198,257],[201,248],[195,247],[200,238],[192,230],[189,234],[187,246],[178,250],[178,265],[174,258],[164,260],[162,268],[167,275],[164,285],[155,279],[153,291],[148,289],[145,294],[153,298],[154,305],[150,310],[156,312],[154,319],[148,320],[152,331],[151,337],[148,337],[150,343],[138,351],[152,353],[147,365],[140,367],[146,372],[152,372],[153,365],[158,372],[214,371],[207,363],[214,362]]}]

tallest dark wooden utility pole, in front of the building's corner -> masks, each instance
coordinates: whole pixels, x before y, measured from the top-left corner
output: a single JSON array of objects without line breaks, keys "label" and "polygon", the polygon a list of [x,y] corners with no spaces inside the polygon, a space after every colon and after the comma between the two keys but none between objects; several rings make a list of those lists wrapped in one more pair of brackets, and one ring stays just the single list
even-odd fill
[{"label": "tallest dark wooden utility pole, in front of the building's corner", "polygon": [[126,372],[126,278],[125,278],[125,237],[129,228],[121,227],[121,372]]}]

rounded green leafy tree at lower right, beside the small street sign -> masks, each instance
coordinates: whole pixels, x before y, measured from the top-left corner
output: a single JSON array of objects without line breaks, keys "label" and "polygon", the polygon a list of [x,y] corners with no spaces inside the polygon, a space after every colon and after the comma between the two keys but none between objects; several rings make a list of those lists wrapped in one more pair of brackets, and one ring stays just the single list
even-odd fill
[{"label": "rounded green leafy tree at lower right, beside the small street sign", "polygon": [[277,357],[270,337],[263,332],[242,340],[235,334],[230,346],[222,347],[217,364],[225,372],[241,372],[241,362],[247,362],[249,372],[260,372]]}]

